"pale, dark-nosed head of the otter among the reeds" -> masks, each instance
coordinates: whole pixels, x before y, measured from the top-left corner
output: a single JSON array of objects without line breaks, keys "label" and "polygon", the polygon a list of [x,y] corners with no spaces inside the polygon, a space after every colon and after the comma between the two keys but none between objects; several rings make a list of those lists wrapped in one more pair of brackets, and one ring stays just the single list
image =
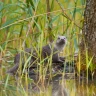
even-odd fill
[{"label": "pale, dark-nosed head of the otter among the reeds", "polygon": [[55,44],[55,48],[58,51],[62,51],[64,46],[66,45],[67,39],[65,36],[58,36],[57,40],[56,40],[56,44]]}]

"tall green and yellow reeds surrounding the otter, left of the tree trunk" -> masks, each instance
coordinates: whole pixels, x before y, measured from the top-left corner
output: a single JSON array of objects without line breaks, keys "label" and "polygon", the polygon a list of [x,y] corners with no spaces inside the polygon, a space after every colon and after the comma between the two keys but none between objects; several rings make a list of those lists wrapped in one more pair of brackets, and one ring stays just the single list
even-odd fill
[{"label": "tall green and yellow reeds surrounding the otter, left of the tree trunk", "polygon": [[[55,40],[57,35],[65,35],[68,39],[67,46],[62,53],[63,56],[73,55],[75,51],[78,51],[78,44],[80,43],[79,34],[84,21],[85,0],[49,1],[49,12],[46,0],[0,1],[1,96],[45,96],[45,94],[51,96],[52,86],[47,86],[49,85],[49,82],[47,82],[46,86],[48,88],[46,89],[45,77],[49,66],[49,75],[50,79],[52,79],[52,57],[49,58],[46,68],[44,68],[44,60],[40,58],[40,62],[38,62],[40,65],[38,69],[38,82],[34,82],[27,74],[25,76],[20,74],[16,80],[14,77],[6,74],[6,70],[14,65],[13,59],[17,52],[22,52],[25,48],[30,47],[34,47],[35,49],[40,48],[40,50],[36,50],[38,56],[40,56],[42,46],[49,43],[51,37]],[[50,18],[48,18],[48,14]],[[30,56],[29,59],[26,59],[23,71],[25,71]],[[68,57],[67,59],[71,61],[72,58]],[[90,61],[86,60],[87,67],[91,65],[91,60],[92,58]],[[37,86],[40,90],[39,93],[33,93],[34,90],[32,91],[31,89],[29,91],[28,86],[30,83]],[[71,84],[69,83],[69,89]],[[70,94],[72,93],[70,96],[75,96],[75,90],[70,90]]]}]

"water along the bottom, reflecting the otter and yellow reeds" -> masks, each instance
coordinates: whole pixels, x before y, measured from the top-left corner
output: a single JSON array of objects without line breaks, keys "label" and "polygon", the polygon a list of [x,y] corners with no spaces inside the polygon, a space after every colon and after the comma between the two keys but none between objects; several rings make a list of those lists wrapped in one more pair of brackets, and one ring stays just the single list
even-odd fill
[{"label": "water along the bottom, reflecting the otter and yellow reeds", "polygon": [[[31,76],[33,79],[36,75]],[[33,81],[30,84],[26,82],[28,86],[25,84],[24,88],[16,80],[9,80],[10,85],[0,82],[0,96],[96,96],[96,79],[87,83],[85,79],[77,79],[74,73],[58,74],[50,82],[38,82],[38,78]]]}]

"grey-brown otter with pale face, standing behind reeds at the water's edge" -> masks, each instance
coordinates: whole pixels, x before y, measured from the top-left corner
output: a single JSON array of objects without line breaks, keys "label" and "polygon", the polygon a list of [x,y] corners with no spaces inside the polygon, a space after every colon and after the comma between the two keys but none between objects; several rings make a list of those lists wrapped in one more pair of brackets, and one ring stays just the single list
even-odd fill
[{"label": "grey-brown otter with pale face, standing behind reeds at the water's edge", "polygon": [[[47,44],[42,47],[41,50],[41,57],[43,59],[47,59],[47,57],[52,55],[52,63],[64,63],[65,58],[59,57],[59,53],[64,49],[64,46],[66,45],[66,37],[65,36],[58,36],[57,40],[53,43]],[[31,55],[30,55],[31,54]],[[7,73],[15,74],[19,68],[20,63],[22,62],[22,65],[24,67],[25,61],[24,57],[29,57],[30,60],[27,62],[30,66],[29,69],[32,69],[36,67],[36,61],[39,61],[37,53],[32,48],[26,48],[24,52],[18,53],[14,58],[14,66],[7,71]]]}]

